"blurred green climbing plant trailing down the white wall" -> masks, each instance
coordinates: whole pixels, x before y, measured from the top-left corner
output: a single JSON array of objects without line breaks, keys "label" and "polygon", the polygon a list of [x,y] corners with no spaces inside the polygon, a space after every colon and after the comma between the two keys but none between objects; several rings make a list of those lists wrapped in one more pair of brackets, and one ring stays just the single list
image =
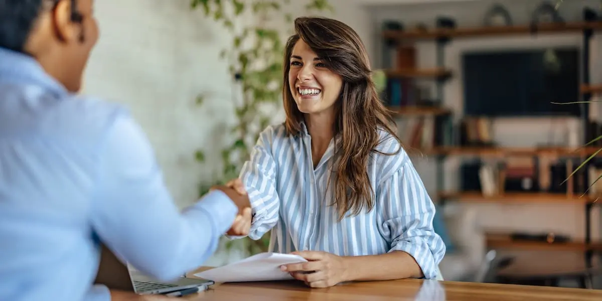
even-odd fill
[{"label": "blurred green climbing plant trailing down the white wall", "polygon": [[[274,17],[284,17],[284,22],[293,28],[293,15],[285,11],[290,0],[243,1],[243,0],[191,0],[192,9],[202,9],[207,17],[222,24],[232,34],[232,43],[220,52],[228,60],[228,70],[241,88],[241,99],[235,104],[235,125],[224,132],[234,137],[232,143],[221,152],[223,169],[214,175],[214,182],[199,185],[199,194],[208,192],[216,184],[224,184],[236,178],[256,143],[259,132],[272,122],[274,109],[281,105],[282,55],[284,54],[281,22]],[[306,11],[333,11],[327,0],[308,0]],[[250,24],[246,23],[252,20]],[[270,25],[272,24],[272,25]],[[276,24],[276,25],[274,25]],[[205,97],[199,96],[197,104]],[[205,151],[194,154],[200,163],[206,160]],[[269,243],[269,234],[261,240],[250,239],[228,241],[226,248],[234,244],[250,254],[263,252]]]}]

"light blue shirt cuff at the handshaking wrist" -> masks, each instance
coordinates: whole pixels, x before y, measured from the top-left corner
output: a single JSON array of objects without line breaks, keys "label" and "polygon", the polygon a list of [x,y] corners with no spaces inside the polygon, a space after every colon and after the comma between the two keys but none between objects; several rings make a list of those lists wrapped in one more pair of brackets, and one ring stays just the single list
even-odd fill
[{"label": "light blue shirt cuff at the handshaking wrist", "polygon": [[230,229],[238,214],[238,206],[221,190],[209,191],[193,208],[205,211],[220,234],[225,234]]}]

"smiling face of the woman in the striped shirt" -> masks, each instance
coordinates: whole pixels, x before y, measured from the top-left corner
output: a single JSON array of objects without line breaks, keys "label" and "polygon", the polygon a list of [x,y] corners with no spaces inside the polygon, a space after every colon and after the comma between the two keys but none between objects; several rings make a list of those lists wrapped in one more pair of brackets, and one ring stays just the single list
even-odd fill
[{"label": "smiling face of the woman in the striped shirt", "polygon": [[288,86],[299,111],[306,114],[331,111],[341,93],[343,78],[326,68],[303,40],[295,44],[289,63]]}]

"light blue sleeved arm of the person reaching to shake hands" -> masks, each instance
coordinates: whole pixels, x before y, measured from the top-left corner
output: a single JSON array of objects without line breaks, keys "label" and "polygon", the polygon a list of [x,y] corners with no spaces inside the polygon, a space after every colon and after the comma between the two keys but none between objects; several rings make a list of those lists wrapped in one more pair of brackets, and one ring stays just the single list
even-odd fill
[{"label": "light blue sleeved arm of the person reaching to shake hands", "polygon": [[117,117],[103,145],[90,213],[102,242],[159,280],[202,265],[234,222],[235,203],[214,190],[180,213],[151,145],[128,116]]}]

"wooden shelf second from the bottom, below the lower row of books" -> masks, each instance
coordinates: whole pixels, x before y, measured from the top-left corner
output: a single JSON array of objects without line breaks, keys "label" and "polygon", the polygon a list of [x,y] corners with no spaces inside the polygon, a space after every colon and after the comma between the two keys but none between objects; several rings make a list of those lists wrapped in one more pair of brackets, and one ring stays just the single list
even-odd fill
[{"label": "wooden shelf second from the bottom, below the lower row of books", "polygon": [[515,193],[506,192],[498,196],[484,196],[480,191],[442,192],[439,199],[475,203],[594,203],[597,199],[580,194],[566,193]]}]

